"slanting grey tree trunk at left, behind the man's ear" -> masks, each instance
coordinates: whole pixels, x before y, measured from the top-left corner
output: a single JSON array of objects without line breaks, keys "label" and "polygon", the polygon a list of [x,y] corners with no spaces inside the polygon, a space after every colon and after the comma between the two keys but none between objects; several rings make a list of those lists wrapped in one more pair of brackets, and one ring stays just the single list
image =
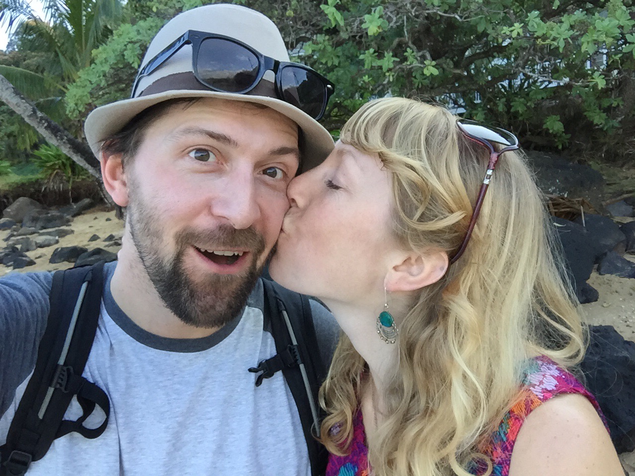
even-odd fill
[{"label": "slanting grey tree trunk at left, behind the man's ear", "polygon": [[99,162],[86,143],[70,135],[65,129],[53,122],[50,117],[39,111],[33,103],[0,75],[0,101],[3,101],[17,114],[33,126],[47,142],[57,146],[79,166],[83,167],[101,182]]}]

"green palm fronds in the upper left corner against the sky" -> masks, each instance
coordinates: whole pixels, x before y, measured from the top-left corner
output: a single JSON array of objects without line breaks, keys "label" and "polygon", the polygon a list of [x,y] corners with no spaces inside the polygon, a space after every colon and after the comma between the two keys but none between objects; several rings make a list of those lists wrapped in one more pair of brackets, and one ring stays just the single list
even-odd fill
[{"label": "green palm fronds in the upper left corner against the sky", "polygon": [[[0,75],[62,128],[81,135],[81,122],[66,114],[67,84],[91,64],[92,51],[119,25],[122,3],[44,0],[43,10],[41,18],[25,0],[0,0],[0,25],[15,29],[8,54],[0,55]],[[25,160],[24,152],[32,157],[41,136],[7,107],[0,108],[0,122],[0,158]]]}]

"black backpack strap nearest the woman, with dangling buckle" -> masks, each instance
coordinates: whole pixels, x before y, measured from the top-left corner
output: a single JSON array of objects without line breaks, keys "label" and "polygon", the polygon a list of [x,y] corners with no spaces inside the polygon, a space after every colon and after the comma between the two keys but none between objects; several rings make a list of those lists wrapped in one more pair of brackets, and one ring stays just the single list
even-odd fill
[{"label": "black backpack strap nearest the woman, with dangling buckle", "polygon": [[313,325],[311,305],[306,296],[293,293],[272,281],[262,279],[265,313],[271,321],[271,333],[276,342],[277,355],[263,360],[251,372],[261,372],[256,385],[281,370],[295,400],[302,430],[309,449],[311,473],[326,471],[328,453],[319,437],[321,410],[318,390],[326,371],[318,350],[318,338]]}]

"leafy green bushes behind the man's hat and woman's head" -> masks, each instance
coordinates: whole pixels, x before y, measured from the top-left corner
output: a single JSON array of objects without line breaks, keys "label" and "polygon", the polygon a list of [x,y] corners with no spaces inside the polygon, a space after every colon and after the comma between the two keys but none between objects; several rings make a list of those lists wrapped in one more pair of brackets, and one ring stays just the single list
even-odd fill
[{"label": "leafy green bushes behind the man's hat and woman's head", "polygon": [[[72,117],[124,98],[145,46],[185,5],[133,4],[69,87]],[[337,88],[326,126],[337,131],[369,98],[445,103],[512,128],[525,147],[612,157],[635,150],[635,7],[629,0],[244,0],[281,27],[291,54]],[[615,142],[622,143],[615,150]]]}]

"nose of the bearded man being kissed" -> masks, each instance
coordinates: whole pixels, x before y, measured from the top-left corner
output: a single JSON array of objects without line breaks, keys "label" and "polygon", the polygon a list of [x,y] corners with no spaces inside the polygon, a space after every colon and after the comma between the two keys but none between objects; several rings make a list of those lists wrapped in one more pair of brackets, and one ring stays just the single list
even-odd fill
[{"label": "nose of the bearded man being kissed", "polygon": [[212,213],[238,230],[248,228],[260,217],[257,199],[253,171],[235,171],[227,177],[222,196],[213,199]]}]

